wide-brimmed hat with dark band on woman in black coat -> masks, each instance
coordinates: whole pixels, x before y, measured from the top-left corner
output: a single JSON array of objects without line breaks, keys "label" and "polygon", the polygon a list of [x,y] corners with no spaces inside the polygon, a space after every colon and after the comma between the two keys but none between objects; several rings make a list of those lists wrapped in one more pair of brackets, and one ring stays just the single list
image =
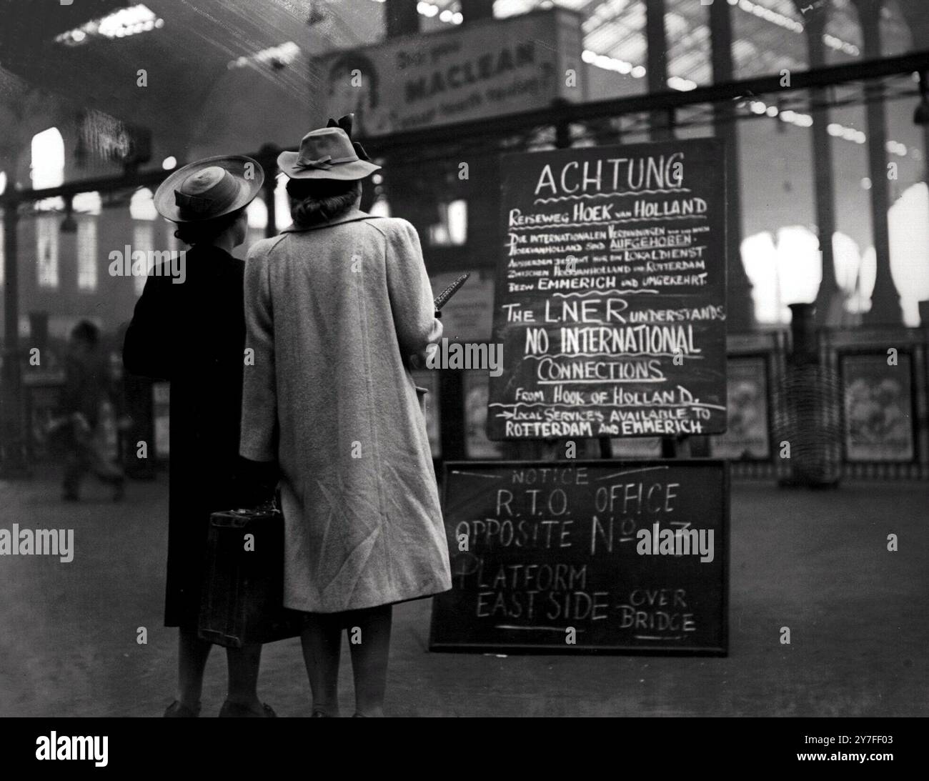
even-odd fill
[{"label": "wide-brimmed hat with dark band on woman in black coat", "polygon": [[253,202],[264,182],[264,169],[250,157],[208,157],[168,176],[155,192],[155,209],[172,222],[212,220]]}]

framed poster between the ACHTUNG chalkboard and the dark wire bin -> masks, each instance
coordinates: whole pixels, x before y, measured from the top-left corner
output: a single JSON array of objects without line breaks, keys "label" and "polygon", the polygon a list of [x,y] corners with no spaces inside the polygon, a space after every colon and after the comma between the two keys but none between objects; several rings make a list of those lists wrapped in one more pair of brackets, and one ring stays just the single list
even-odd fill
[{"label": "framed poster between the ACHTUNG chalkboard and the dark wire bin", "polygon": [[768,376],[765,356],[729,358],[726,434],[713,436],[713,456],[739,461],[771,457]]}]

